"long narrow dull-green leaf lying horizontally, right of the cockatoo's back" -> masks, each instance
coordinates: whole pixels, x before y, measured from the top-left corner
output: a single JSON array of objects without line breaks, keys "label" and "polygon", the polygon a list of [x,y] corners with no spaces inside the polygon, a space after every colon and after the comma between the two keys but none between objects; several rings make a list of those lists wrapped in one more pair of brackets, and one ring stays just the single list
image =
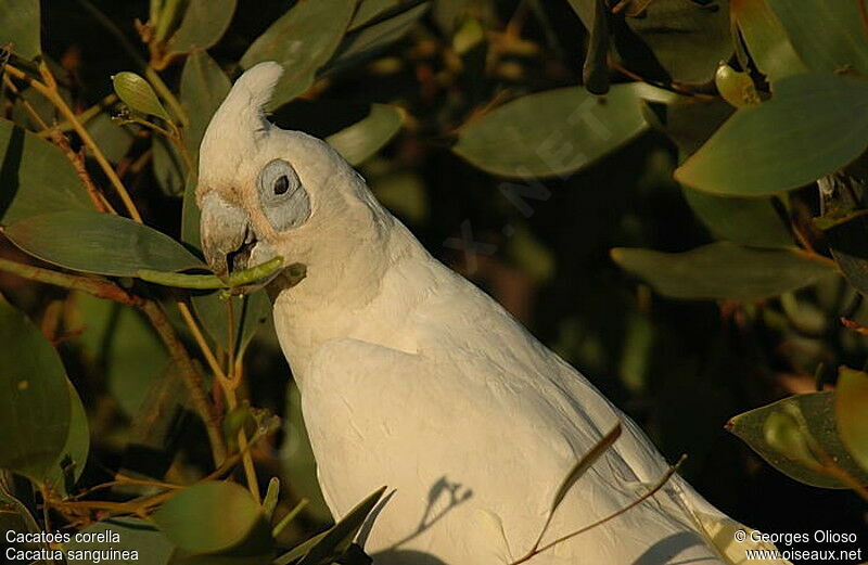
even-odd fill
[{"label": "long narrow dull-green leaf lying horizontally, right of the cockatoo's back", "polygon": [[756,249],[729,242],[685,253],[612,249],[612,258],[672,298],[752,301],[802,288],[834,268],[790,249]]}]

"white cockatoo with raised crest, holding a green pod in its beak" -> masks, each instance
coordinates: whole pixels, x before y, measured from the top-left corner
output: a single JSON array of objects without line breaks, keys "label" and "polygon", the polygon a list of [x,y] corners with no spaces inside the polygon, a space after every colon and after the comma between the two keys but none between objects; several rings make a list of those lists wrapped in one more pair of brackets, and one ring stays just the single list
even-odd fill
[{"label": "white cockatoo with raised crest, holding a green pod in its beak", "polygon": [[[207,128],[202,243],[218,273],[276,256],[307,266],[296,286],[278,277],[269,291],[334,516],[386,485],[361,532],[375,563],[512,563],[564,476],[618,421],[622,436],[569,491],[540,547],[646,493],[668,467],[636,424],[435,260],[337,152],[266,119],[281,72],[244,73]],[[738,563],[754,547],[732,541],[738,528],[676,475],[526,563]]]}]

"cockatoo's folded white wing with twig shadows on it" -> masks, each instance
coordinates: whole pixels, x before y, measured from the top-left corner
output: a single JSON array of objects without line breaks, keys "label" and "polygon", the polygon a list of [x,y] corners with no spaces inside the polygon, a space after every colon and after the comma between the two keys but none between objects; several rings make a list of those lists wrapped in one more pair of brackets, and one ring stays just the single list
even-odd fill
[{"label": "cockatoo's folded white wing with twig shadows on it", "polygon": [[[576,452],[575,429],[547,418],[559,412],[538,390],[510,385],[506,369],[490,359],[449,351],[447,359],[356,339],[320,348],[303,395],[315,452],[329,446],[328,457],[318,458],[320,484],[337,516],[383,484],[395,489],[367,540],[371,552],[510,563],[532,547],[556,489],[584,452]],[[616,418],[612,413],[609,424]],[[588,437],[588,447],[601,435]],[[544,543],[617,512],[641,489],[613,450],[570,492]],[[649,500],[531,563],[722,563],[692,529],[679,489],[674,484],[658,495],[668,499],[664,503]],[[392,563],[388,554],[378,563]],[[396,563],[410,565],[407,554],[396,555]]]}]

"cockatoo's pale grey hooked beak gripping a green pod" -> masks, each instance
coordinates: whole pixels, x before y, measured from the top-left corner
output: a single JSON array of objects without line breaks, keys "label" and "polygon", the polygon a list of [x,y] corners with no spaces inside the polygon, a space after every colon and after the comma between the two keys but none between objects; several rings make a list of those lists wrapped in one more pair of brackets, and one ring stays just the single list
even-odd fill
[{"label": "cockatoo's pale grey hooked beak gripping a green pod", "polygon": [[202,252],[219,277],[248,267],[256,233],[247,214],[210,192],[202,198]]}]

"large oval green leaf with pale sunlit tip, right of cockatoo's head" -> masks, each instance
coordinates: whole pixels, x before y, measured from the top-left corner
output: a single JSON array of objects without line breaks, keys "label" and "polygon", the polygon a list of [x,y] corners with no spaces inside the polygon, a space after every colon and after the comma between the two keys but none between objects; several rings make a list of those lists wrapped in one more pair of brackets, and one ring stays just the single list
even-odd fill
[{"label": "large oval green leaf with pale sunlit tip, right of cockatoo's head", "polygon": [[505,177],[569,175],[646,131],[647,97],[674,98],[636,84],[614,85],[600,98],[582,87],[522,97],[467,125],[452,151]]}]

